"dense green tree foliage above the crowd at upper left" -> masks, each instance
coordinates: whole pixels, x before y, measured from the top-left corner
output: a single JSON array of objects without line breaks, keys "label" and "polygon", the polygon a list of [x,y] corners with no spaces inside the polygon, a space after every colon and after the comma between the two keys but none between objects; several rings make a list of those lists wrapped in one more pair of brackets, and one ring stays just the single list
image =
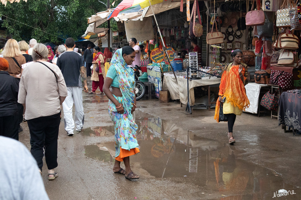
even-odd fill
[{"label": "dense green tree foliage above the crowd at upper left", "polygon": [[106,0],[28,0],[7,4],[0,6],[2,27],[17,41],[35,38],[38,42],[59,44],[68,37],[78,40],[88,26],[87,18],[107,9],[99,1],[107,4]]}]

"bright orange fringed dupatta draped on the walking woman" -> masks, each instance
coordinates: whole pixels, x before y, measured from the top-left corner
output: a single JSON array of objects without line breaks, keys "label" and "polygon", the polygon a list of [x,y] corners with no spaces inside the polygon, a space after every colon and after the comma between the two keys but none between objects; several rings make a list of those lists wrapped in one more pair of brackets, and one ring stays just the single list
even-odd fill
[{"label": "bright orange fringed dupatta draped on the walking woman", "polygon": [[[244,81],[241,81],[238,72],[239,65],[232,64],[233,63],[230,63],[223,72],[221,84],[219,85],[219,95],[226,97],[225,103],[231,103],[231,106],[237,107],[239,110],[245,110],[245,108],[250,105],[244,88],[247,84],[247,65],[243,63],[241,64],[246,67],[243,68],[243,71],[241,72],[244,76]],[[223,109],[225,114],[225,106]],[[219,122],[219,101],[216,102],[214,119]]]}]

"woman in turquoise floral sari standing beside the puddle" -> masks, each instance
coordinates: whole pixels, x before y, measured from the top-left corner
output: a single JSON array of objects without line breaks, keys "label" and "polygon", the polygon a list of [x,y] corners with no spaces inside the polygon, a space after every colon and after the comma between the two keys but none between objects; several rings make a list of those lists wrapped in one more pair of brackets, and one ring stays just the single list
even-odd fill
[{"label": "woman in turquoise floral sari standing beside the puddle", "polygon": [[[136,139],[137,124],[133,119],[136,108],[135,77],[132,62],[135,60],[135,50],[130,46],[116,50],[111,66],[104,82],[104,93],[109,100],[109,115],[115,128],[115,164],[114,173],[125,174],[132,180],[139,176],[132,172],[129,156],[139,153]],[[124,162],[126,170],[120,167]]]}]

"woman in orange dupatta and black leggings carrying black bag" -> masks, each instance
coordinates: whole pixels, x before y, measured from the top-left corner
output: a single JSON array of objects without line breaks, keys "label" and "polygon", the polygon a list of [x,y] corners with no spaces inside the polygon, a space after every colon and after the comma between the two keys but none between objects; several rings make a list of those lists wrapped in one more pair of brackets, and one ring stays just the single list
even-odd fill
[{"label": "woman in orange dupatta and black leggings carrying black bag", "polygon": [[241,115],[242,111],[249,107],[250,102],[244,86],[248,83],[247,65],[241,63],[243,52],[239,49],[231,53],[233,62],[225,67],[219,85],[219,101],[216,102],[214,119],[219,122],[219,102],[223,103],[223,113],[228,114],[228,138],[229,144],[235,142],[233,138],[233,125],[236,115]]}]

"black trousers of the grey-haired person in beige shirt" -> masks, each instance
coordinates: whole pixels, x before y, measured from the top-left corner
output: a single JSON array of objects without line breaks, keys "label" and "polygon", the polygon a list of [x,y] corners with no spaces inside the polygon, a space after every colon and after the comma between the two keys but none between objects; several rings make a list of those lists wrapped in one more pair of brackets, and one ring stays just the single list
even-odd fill
[{"label": "black trousers of the grey-haired person in beige shirt", "polygon": [[61,112],[46,117],[27,120],[30,132],[30,152],[38,163],[39,169],[43,167],[43,146],[45,146],[45,161],[48,169],[57,167],[57,138],[61,122]]}]

